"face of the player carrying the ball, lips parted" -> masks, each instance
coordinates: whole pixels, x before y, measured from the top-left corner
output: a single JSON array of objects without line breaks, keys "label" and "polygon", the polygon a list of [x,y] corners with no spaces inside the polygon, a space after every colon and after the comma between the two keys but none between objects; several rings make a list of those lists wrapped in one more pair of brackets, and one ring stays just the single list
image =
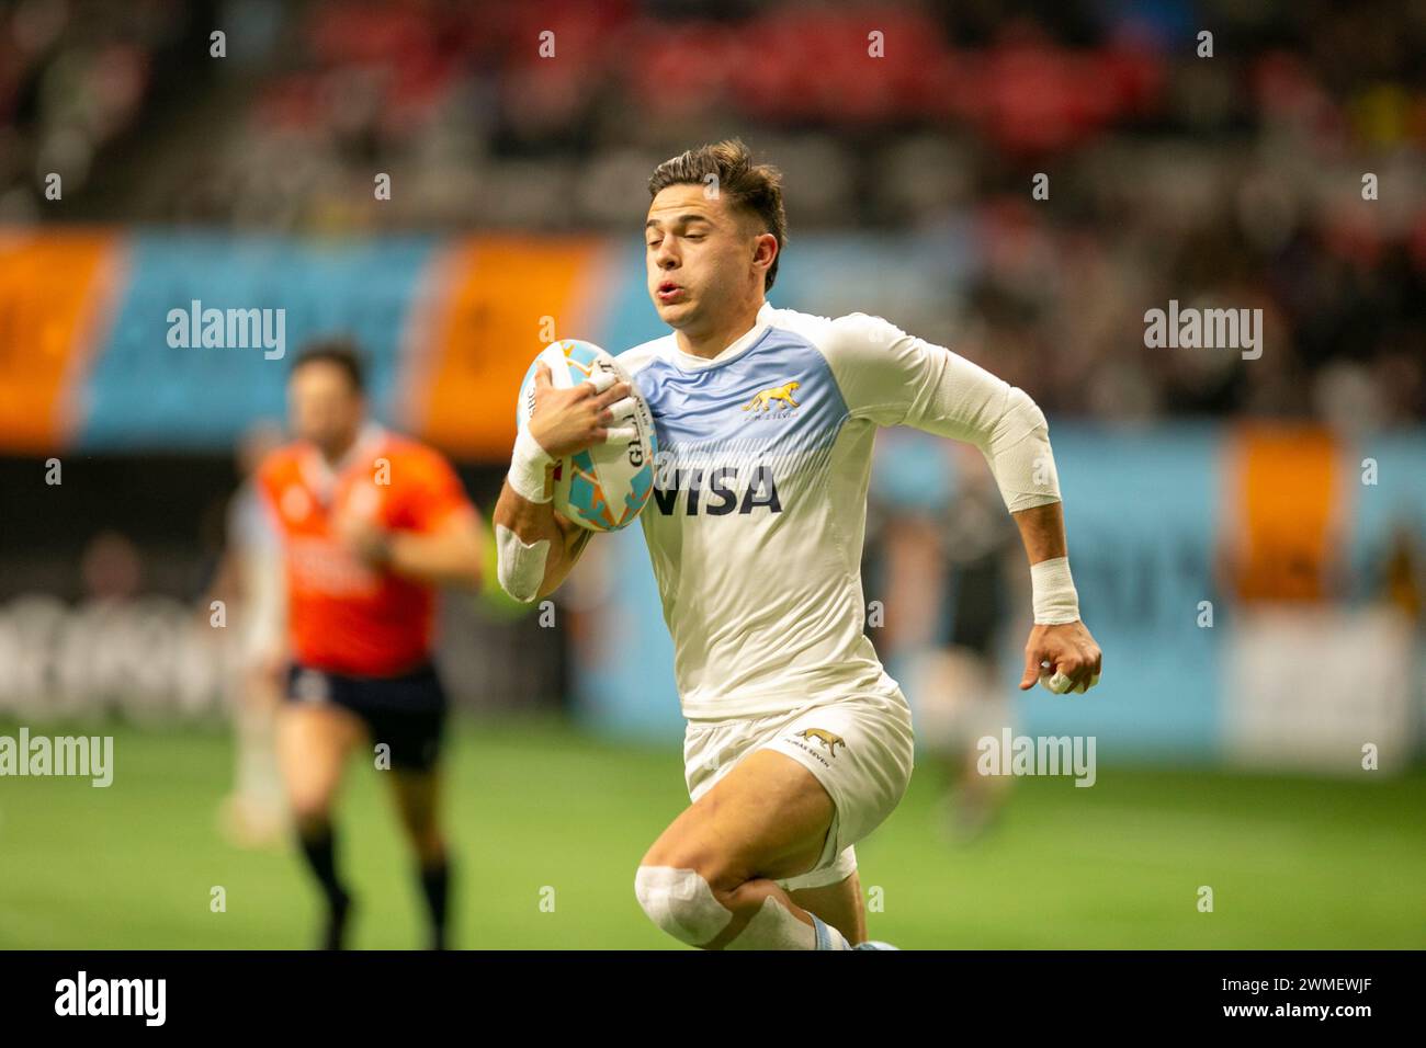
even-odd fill
[{"label": "face of the player carrying the ball, lips parted", "polygon": [[670,328],[717,324],[761,284],[756,232],[703,185],[670,185],[649,205],[643,230],[649,297]]}]

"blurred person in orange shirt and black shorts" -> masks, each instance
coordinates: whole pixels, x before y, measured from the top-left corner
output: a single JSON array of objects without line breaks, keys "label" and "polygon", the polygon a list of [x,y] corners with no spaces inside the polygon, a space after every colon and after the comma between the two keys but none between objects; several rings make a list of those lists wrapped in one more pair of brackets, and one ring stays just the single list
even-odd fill
[{"label": "blurred person in orange shirt and black shorts", "polygon": [[332,803],[351,753],[372,744],[418,860],[432,948],[446,947],[449,858],[436,761],[446,696],[432,663],[435,587],[481,582],[481,523],[435,451],[366,418],[361,361],[311,346],[288,381],[294,443],[260,483],[285,542],[292,666],[278,756],[302,854],[341,948],[351,893]]}]

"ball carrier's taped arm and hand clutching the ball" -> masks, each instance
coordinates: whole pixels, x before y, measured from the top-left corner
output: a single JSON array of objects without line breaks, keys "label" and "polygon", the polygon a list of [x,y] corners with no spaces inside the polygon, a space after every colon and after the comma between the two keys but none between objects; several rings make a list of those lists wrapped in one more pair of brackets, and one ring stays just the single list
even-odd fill
[{"label": "ball carrier's taped arm and hand clutching the ball", "polygon": [[501,586],[516,600],[559,589],[589,543],[592,532],[555,512],[550,471],[556,461],[610,439],[609,426],[629,394],[627,382],[559,389],[543,362],[536,368],[529,429],[516,442],[495,505]]}]

